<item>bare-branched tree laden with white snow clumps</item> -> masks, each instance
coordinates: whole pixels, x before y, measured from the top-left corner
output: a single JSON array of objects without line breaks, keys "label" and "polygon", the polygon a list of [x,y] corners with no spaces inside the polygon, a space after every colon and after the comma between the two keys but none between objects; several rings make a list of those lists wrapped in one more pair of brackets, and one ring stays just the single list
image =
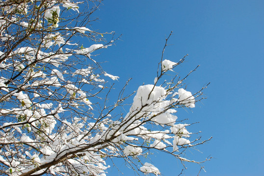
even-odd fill
[{"label": "bare-branched tree laden with white snow clumps", "polygon": [[[108,103],[107,80],[119,77],[96,62],[97,50],[114,42],[104,39],[112,32],[90,30],[100,4],[0,0],[1,175],[106,176],[113,158],[138,173],[159,175],[145,159],[155,150],[183,166],[207,160],[184,157],[186,148],[205,141],[192,138],[190,124],[176,116],[177,109],[195,107],[203,88],[192,94],[182,88],[186,77],[163,79],[185,57],[163,60],[163,50],[153,85],[125,95],[126,84]],[[130,96],[129,112],[118,113]]]}]

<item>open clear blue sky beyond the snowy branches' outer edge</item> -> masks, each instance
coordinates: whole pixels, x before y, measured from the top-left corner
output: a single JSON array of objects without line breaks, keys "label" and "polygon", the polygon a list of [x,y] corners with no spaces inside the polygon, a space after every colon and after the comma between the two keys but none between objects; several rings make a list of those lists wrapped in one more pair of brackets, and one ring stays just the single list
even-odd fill
[{"label": "open clear blue sky beyond the snowy branches' outer edge", "polygon": [[[100,32],[115,31],[120,40],[100,53],[97,61],[106,72],[120,77],[115,88],[133,78],[127,93],[143,83],[153,84],[165,38],[164,59],[188,57],[176,73],[182,76],[201,65],[187,80],[187,90],[204,91],[207,98],[196,108],[179,111],[179,118],[200,122],[188,128],[202,131],[199,153],[187,157],[211,161],[200,176],[263,176],[264,174],[264,0],[104,0],[91,26]],[[132,102],[130,102],[132,103]],[[152,163],[162,176],[178,176],[182,165],[165,154],[154,154]],[[124,162],[125,176],[134,176]],[[197,175],[200,166],[188,164],[185,176]],[[108,176],[121,176],[113,167]]]}]

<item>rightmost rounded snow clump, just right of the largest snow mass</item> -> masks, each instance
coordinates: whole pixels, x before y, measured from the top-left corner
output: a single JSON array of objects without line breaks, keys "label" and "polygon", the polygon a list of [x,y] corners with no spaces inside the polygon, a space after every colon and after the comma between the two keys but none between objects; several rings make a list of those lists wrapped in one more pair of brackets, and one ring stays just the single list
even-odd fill
[{"label": "rightmost rounded snow clump, just right of the largest snow mass", "polygon": [[180,102],[181,104],[184,104],[186,107],[188,108],[194,108],[195,105],[195,100],[194,97],[192,96],[191,92],[186,91],[183,88],[180,88],[178,90],[179,93],[179,99],[177,100],[178,102]]}]

